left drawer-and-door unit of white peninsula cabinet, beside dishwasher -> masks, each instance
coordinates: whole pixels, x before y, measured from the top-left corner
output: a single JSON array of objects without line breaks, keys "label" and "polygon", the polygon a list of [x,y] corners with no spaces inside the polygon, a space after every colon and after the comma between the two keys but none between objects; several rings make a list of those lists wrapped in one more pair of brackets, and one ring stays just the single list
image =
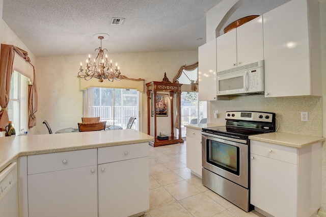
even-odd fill
[{"label": "left drawer-and-door unit of white peninsula cabinet, beside dishwasher", "polygon": [[96,149],[28,156],[28,210],[30,217],[97,216]]}]

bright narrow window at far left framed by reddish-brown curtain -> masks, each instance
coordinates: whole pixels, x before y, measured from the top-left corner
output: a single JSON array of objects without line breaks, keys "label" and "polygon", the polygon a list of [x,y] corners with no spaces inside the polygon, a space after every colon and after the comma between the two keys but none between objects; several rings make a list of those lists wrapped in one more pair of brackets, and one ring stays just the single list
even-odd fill
[{"label": "bright narrow window at far left framed by reddish-brown curtain", "polygon": [[11,76],[8,116],[18,134],[28,129],[28,81],[24,75],[14,71]]}]

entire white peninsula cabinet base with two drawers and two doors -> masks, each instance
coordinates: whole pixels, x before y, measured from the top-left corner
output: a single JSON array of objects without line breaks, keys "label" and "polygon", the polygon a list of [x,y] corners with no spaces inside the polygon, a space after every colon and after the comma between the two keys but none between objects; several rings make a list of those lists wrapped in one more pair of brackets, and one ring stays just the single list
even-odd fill
[{"label": "entire white peninsula cabinet base with two drawers and two doors", "polygon": [[30,155],[26,167],[29,217],[125,217],[149,209],[148,143]]}]

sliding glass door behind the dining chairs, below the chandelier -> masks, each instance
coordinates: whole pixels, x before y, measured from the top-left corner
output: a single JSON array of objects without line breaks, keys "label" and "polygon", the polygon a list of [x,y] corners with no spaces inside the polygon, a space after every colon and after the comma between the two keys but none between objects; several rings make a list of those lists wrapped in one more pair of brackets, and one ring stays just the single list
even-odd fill
[{"label": "sliding glass door behind the dining chairs, below the chandelier", "polygon": [[139,130],[140,93],[132,89],[90,88],[84,91],[84,116],[100,117],[113,126],[127,127],[135,117],[132,128]]}]

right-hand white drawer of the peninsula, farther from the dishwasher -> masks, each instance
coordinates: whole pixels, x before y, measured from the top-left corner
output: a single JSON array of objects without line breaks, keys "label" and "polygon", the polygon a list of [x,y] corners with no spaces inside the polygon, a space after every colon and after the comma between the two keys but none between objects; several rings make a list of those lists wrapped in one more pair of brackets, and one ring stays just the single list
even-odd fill
[{"label": "right-hand white drawer of the peninsula, farther from the dishwasher", "polygon": [[98,164],[148,156],[148,143],[98,148]]}]

